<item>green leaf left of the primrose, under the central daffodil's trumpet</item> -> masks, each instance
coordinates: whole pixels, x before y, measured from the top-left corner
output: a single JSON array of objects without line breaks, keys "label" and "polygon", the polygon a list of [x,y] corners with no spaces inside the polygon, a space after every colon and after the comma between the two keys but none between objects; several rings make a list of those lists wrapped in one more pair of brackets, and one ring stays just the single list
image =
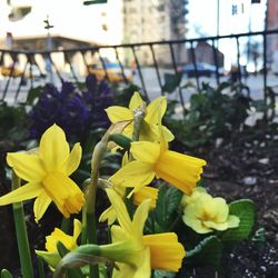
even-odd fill
[{"label": "green leaf left of the primrose, under the central daffodil's trumpet", "polygon": [[167,185],[159,188],[157,207],[153,210],[155,219],[159,226],[157,232],[171,230],[181,198],[182,192],[173,187]]}]

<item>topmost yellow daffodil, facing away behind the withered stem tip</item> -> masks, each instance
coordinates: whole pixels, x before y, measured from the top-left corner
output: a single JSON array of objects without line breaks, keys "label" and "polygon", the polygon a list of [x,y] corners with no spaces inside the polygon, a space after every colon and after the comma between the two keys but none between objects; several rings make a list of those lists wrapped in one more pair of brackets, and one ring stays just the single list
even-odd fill
[{"label": "topmost yellow daffodil, facing away behind the withered stem tip", "polygon": [[[119,121],[130,121],[125,130],[123,135],[132,138],[133,132],[133,111],[136,109],[140,109],[146,103],[142,101],[139,92],[135,92],[129,102],[129,108],[112,106],[106,109],[108,118],[111,122]],[[142,108],[143,109],[143,108]],[[167,99],[166,97],[159,97],[151,101],[147,108],[143,117],[143,121],[140,129],[139,140],[146,141],[159,141],[160,138],[160,129],[158,125],[161,125],[162,117],[167,109]],[[162,132],[167,141],[171,141],[173,139],[173,135],[170,130],[162,126]]]}]

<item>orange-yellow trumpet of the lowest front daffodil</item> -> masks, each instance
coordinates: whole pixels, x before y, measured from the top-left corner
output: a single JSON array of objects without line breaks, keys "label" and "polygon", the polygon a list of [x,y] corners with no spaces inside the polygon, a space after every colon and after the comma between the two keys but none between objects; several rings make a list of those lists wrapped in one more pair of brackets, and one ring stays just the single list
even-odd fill
[{"label": "orange-yellow trumpet of the lowest front daffodil", "polygon": [[143,236],[143,242],[150,248],[151,268],[178,271],[186,255],[175,232]]}]

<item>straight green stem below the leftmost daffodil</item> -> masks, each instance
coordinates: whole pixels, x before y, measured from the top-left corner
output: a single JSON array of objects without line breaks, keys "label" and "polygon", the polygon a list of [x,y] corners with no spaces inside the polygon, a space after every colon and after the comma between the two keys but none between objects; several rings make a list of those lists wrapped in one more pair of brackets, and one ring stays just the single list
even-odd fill
[{"label": "straight green stem below the leftmost daffodil", "polygon": [[[12,190],[19,188],[20,185],[21,185],[20,178],[16,175],[14,171],[12,171],[12,180],[11,180]],[[31,254],[30,254],[29,240],[28,240],[28,235],[27,235],[22,202],[13,203],[12,211],[13,211],[13,218],[14,218],[14,225],[16,225],[21,271],[22,271],[23,278],[32,278],[33,269],[32,269]]]}]

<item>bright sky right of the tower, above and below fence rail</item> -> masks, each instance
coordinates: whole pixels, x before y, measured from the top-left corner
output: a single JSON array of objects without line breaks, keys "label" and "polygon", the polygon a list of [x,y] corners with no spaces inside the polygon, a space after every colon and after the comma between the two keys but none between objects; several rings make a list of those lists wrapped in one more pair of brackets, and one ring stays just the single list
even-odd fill
[{"label": "bright sky right of the tower, above and below fence rail", "polygon": [[[217,0],[188,0],[188,33],[187,38],[217,36]],[[266,2],[251,4],[251,0],[219,0],[219,34],[235,34],[251,31],[262,31],[265,28]],[[232,16],[232,6],[238,12]],[[242,7],[244,6],[244,12]],[[242,39],[245,40],[245,39]],[[256,40],[261,40],[257,37]],[[246,42],[246,41],[241,41]],[[244,43],[240,43],[244,44]],[[236,41],[220,40],[219,50],[225,53],[225,68],[230,69],[237,64]],[[241,64],[246,64],[241,56]],[[254,64],[248,64],[248,70],[254,70]]]}]

